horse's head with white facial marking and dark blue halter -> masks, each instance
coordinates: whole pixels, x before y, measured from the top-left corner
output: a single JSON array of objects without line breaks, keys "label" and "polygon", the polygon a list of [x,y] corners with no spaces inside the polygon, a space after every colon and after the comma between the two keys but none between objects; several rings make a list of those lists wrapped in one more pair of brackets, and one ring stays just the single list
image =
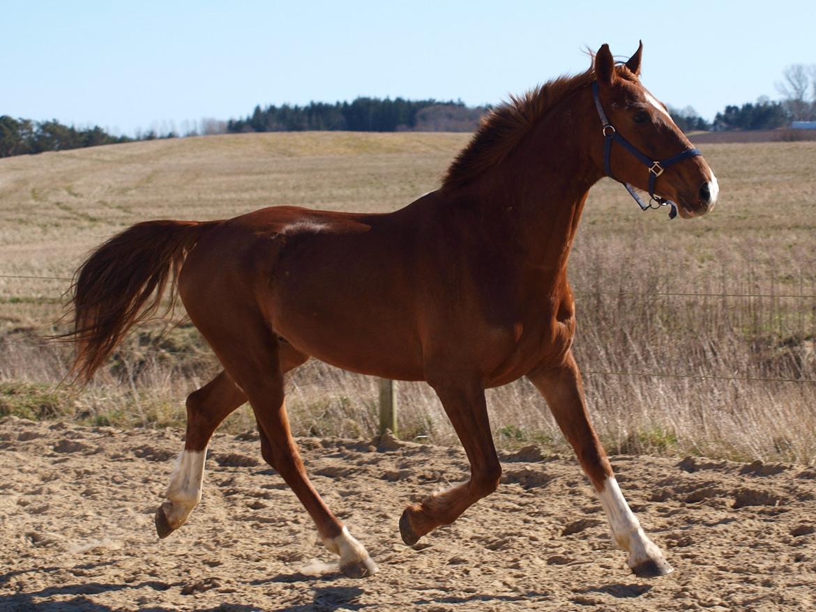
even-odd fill
[{"label": "horse's head with white facial marking and dark blue halter", "polygon": [[643,45],[615,65],[608,45],[595,55],[596,161],[607,175],[676,202],[680,215],[705,215],[719,187],[711,168],[640,81]]}]

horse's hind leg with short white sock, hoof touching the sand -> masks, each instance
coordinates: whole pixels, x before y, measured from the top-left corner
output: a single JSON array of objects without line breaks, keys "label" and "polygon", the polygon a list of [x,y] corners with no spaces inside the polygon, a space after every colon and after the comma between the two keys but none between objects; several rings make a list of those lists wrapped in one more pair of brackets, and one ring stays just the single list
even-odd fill
[{"label": "horse's hind leg with short white sock, hoof touching the sand", "polygon": [[[196,325],[202,329],[198,322]],[[281,347],[259,315],[245,314],[236,318],[231,329],[221,329],[217,334],[202,331],[224,368],[249,398],[261,432],[264,459],[303,503],[326,548],[339,555],[340,570],[354,578],[374,574],[377,566],[366,549],[326,507],[306,476],[284,406],[286,364],[283,353],[286,348]]]}]

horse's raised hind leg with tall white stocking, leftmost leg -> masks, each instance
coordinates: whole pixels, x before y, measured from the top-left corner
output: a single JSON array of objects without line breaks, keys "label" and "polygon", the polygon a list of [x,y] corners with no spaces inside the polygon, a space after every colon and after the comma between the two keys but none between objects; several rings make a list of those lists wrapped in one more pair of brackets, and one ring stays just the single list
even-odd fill
[{"label": "horse's raised hind leg with tall white stocking, leftmost leg", "polygon": [[202,498],[206,447],[212,433],[246,396],[226,372],[221,372],[187,397],[187,436],[184,450],[167,487],[167,501],[156,511],[156,533],[166,538],[184,525]]}]

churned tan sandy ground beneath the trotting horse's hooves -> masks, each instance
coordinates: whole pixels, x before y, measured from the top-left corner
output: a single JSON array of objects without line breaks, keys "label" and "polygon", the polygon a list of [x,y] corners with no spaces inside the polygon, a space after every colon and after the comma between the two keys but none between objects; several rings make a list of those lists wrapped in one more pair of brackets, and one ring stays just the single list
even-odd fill
[{"label": "churned tan sandy ground beneath the trotting horse's hooves", "polygon": [[411,499],[461,480],[460,449],[300,440],[313,482],[379,564],[347,579],[251,433],[217,435],[204,496],[159,540],[182,433],[0,419],[0,610],[810,610],[816,469],[619,456],[675,572],[628,573],[572,457],[503,457],[503,486],[415,547]]}]

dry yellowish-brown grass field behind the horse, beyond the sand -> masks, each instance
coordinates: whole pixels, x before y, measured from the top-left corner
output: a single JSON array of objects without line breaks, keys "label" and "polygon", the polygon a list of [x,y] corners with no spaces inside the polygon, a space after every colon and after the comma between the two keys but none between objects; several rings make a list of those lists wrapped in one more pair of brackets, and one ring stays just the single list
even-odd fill
[{"label": "dry yellowish-brown grass field behind the horse, beyond the sand", "polygon": [[[62,279],[83,254],[141,220],[277,204],[391,211],[436,188],[467,140],[223,135],[0,160],[0,415],[182,424],[186,393],[216,367],[183,313],[131,334],[82,392],[57,386],[67,356],[36,336],[55,329]],[[703,153],[721,184],[703,219],[642,213],[610,180],[590,194],[570,278],[593,418],[613,453],[813,463],[816,384],[776,380],[816,379],[816,299],[791,297],[816,295],[816,143],[707,144]],[[400,393],[403,437],[451,441],[427,387],[401,384]],[[295,433],[369,437],[375,397],[374,380],[310,362],[290,379]],[[500,446],[563,446],[526,382],[489,400]],[[225,428],[252,424],[244,407]]]}]

